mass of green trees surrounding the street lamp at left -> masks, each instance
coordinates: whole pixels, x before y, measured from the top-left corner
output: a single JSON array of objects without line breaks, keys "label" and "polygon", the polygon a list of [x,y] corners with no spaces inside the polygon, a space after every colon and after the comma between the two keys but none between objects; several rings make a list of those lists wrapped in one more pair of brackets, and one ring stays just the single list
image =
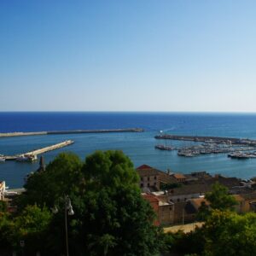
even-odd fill
[{"label": "mass of green trees surrounding the street lamp at left", "polygon": [[120,151],[97,151],[84,162],[60,154],[28,178],[26,193],[17,199],[18,215],[3,213],[1,246],[19,251],[22,240],[26,255],[65,253],[64,195],[69,195],[75,212],[68,216],[70,255],[157,254],[160,230],[137,181],[131,160]]}]

